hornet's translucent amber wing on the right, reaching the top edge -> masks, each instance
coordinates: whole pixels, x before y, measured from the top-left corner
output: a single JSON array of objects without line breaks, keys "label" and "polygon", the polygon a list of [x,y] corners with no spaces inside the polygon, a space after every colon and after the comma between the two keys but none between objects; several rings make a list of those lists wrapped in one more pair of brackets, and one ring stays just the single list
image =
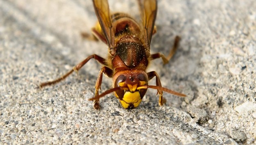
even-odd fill
[{"label": "hornet's translucent amber wing on the right, reaching the top edge", "polygon": [[138,0],[141,18],[143,20],[143,31],[145,43],[150,48],[152,32],[156,20],[157,2],[156,0]]}]

